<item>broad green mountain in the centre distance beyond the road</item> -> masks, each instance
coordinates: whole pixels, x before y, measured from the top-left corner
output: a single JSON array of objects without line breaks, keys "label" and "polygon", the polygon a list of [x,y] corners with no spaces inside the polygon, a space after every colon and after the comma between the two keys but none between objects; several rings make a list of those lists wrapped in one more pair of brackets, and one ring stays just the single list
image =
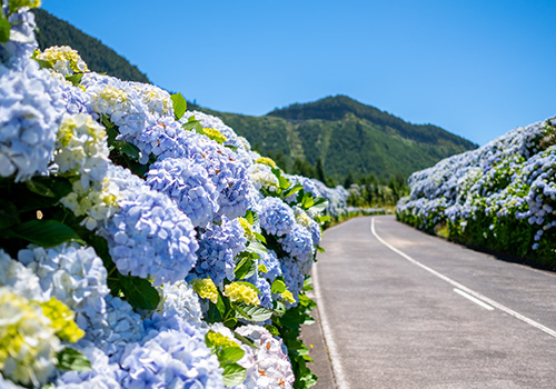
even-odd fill
[{"label": "broad green mountain in the centre distance beyond the road", "polygon": [[[196,109],[221,118],[287,170],[307,172],[312,168],[308,176],[316,177],[321,166],[336,182],[348,176],[408,177],[477,147],[439,127],[411,124],[347,96],[295,103],[262,117]],[[299,169],[302,171],[296,171]]]}]

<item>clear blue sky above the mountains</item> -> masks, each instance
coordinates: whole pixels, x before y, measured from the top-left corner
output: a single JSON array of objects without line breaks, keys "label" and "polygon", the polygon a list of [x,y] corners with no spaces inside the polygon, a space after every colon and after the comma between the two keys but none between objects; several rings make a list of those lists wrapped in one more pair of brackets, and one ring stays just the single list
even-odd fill
[{"label": "clear blue sky above the mountains", "polygon": [[556,0],[43,0],[166,89],[265,114],[347,94],[484,144],[556,116]]}]

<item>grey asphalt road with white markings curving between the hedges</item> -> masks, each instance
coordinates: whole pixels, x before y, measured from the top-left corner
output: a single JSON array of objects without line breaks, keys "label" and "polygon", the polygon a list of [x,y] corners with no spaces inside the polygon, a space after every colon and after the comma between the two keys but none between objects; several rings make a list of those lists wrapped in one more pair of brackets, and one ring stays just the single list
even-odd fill
[{"label": "grey asphalt road with white markings curving between the hedges", "polygon": [[321,246],[317,328],[334,379],[317,388],[556,388],[555,273],[393,217],[353,219]]}]

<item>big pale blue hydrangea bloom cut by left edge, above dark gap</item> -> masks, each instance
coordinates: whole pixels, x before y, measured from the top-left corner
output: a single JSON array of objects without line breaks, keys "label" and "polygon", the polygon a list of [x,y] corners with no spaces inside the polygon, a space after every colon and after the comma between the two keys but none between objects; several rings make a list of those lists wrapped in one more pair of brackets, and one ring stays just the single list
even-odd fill
[{"label": "big pale blue hydrangea bloom cut by left edge, above dark gap", "polygon": [[64,111],[58,81],[28,60],[18,70],[0,64],[0,177],[43,174]]}]

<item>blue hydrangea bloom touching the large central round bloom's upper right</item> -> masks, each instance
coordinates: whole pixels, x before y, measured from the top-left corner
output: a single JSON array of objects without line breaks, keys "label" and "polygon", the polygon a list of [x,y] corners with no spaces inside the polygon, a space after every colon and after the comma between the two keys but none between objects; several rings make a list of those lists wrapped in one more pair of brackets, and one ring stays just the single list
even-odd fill
[{"label": "blue hydrangea bloom touching the large central round bloom's upper right", "polygon": [[168,194],[196,227],[206,227],[219,209],[216,186],[207,170],[186,158],[168,158],[151,164],[147,183]]}]

